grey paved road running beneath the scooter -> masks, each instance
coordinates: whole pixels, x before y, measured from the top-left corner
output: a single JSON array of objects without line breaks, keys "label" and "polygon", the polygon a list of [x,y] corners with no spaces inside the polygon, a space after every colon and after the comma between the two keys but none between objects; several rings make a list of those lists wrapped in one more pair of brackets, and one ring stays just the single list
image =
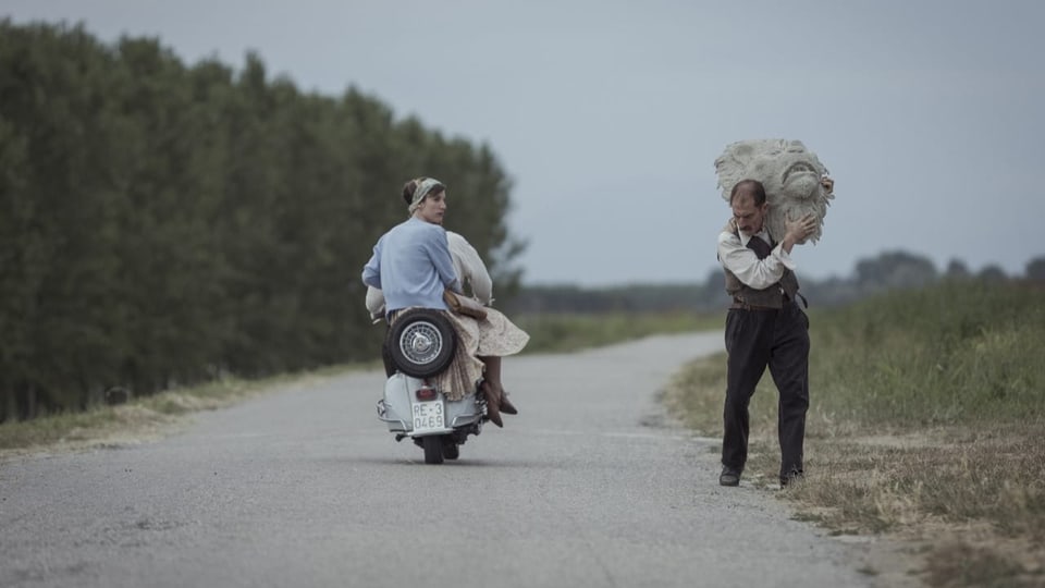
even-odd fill
[{"label": "grey paved road running beneath the scooter", "polygon": [[0,586],[869,586],[855,548],[765,490],[654,394],[721,333],[514,357],[521,414],[423,464],[383,375],[200,414],[162,441],[0,466]]}]

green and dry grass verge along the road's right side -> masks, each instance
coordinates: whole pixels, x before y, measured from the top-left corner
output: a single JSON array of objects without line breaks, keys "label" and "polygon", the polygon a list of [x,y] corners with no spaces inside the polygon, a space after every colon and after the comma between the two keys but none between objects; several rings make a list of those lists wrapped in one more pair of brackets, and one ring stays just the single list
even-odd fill
[{"label": "green and dry grass verge along the road's right side", "polygon": [[[811,315],[807,478],[779,495],[835,534],[901,541],[924,585],[1045,586],[1040,299],[1021,285],[945,284]],[[721,437],[724,388],[722,355],[686,366],[666,402]],[[745,479],[775,488],[771,378],[750,409]]]}]

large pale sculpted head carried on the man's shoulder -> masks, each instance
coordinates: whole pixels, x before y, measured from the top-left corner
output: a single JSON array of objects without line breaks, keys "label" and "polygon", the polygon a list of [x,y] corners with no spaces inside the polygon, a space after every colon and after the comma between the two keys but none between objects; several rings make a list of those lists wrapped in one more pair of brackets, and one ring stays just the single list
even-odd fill
[{"label": "large pale sculpted head carried on the man's shoulder", "polygon": [[722,197],[728,203],[733,186],[741,180],[758,180],[765,187],[766,228],[782,238],[784,221],[806,215],[816,218],[817,226],[809,241],[820,240],[824,217],[834,195],[834,181],[816,154],[800,140],[749,139],[733,143],[715,159],[715,173]]}]

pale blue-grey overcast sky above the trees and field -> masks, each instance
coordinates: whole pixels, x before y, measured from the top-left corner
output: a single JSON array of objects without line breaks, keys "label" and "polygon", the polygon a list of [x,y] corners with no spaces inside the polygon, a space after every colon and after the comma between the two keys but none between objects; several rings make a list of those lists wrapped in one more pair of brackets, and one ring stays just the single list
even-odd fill
[{"label": "pale blue-grey overcast sky above the trees and field", "polygon": [[897,249],[1017,274],[1045,255],[1036,0],[0,0],[0,15],[155,36],[188,63],[239,69],[254,50],[303,90],[355,86],[488,143],[531,284],[703,281],[729,215],[713,162],[749,138],[802,140],[836,181],[800,274]]}]

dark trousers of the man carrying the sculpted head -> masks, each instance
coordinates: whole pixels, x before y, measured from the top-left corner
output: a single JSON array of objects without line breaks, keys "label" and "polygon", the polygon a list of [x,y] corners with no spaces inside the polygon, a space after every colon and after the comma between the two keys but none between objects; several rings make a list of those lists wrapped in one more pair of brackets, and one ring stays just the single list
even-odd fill
[{"label": "dark trousers of the man carrying the sculpted head", "polygon": [[766,366],[779,393],[780,476],[802,471],[809,408],[809,319],[794,302],[780,310],[730,308],[726,316],[726,403],[722,465],[743,470],[748,461],[748,404]]}]

